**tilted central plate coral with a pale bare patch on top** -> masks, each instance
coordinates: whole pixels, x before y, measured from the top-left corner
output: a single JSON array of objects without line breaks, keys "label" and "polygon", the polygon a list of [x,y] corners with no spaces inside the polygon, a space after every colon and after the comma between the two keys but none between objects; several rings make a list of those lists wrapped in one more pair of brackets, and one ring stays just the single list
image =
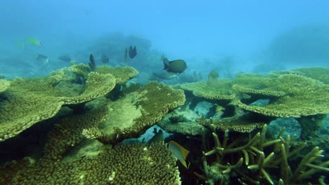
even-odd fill
[{"label": "tilted central plate coral with a pale bare patch on top", "polygon": [[144,88],[129,93],[115,102],[108,102],[108,116],[99,127],[84,130],[90,139],[113,144],[138,137],[160,121],[170,109],[185,102],[182,90],[152,81]]}]

